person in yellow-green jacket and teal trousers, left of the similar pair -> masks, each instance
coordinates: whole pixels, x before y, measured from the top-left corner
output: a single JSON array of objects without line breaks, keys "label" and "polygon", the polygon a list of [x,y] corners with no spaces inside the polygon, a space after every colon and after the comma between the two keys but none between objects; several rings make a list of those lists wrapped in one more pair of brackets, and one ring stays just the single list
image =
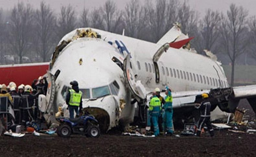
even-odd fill
[{"label": "person in yellow-green jacket and teal trousers, left of the similar pair", "polygon": [[157,94],[156,92],[153,92],[153,97],[150,100],[149,114],[151,116],[153,126],[154,126],[154,135],[158,136],[160,134],[159,127],[158,127],[158,117],[160,116],[161,102],[156,94]]}]

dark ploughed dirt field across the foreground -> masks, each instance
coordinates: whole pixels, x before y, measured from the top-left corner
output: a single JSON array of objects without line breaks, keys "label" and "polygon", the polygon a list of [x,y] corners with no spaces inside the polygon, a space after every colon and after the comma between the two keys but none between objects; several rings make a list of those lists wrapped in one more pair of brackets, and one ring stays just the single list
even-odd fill
[{"label": "dark ploughed dirt field across the foreground", "polygon": [[[250,106],[245,107],[250,109]],[[247,113],[255,119],[253,112]],[[215,130],[213,138],[207,134],[200,138],[116,134],[101,135],[98,139],[82,135],[66,139],[57,135],[26,134],[20,139],[0,136],[0,156],[256,156],[256,134]]]}]

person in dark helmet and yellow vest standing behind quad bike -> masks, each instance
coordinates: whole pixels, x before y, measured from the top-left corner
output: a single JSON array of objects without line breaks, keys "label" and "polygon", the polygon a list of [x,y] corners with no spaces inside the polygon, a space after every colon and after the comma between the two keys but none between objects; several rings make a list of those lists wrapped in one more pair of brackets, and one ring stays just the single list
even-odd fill
[{"label": "person in dark helmet and yellow vest standing behind quad bike", "polygon": [[[69,117],[74,118],[74,110],[76,112],[76,115],[79,115],[79,111],[81,112],[83,108],[83,102],[82,102],[83,93],[79,90],[77,81],[70,82],[70,85],[72,85],[72,89],[68,90],[67,92],[66,104],[68,105],[68,109],[69,109]],[[79,107],[79,111],[78,111],[78,107]]]}]

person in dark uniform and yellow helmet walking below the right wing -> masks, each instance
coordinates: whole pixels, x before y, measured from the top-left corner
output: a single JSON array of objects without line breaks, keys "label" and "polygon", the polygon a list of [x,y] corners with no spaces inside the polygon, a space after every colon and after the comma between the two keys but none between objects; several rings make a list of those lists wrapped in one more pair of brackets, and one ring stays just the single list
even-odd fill
[{"label": "person in dark uniform and yellow helmet walking below the right wing", "polygon": [[201,136],[201,130],[204,128],[204,124],[206,124],[207,129],[210,132],[211,137],[214,136],[213,128],[211,125],[211,103],[209,102],[209,95],[206,93],[202,94],[203,101],[200,105],[197,106],[197,108],[200,110],[200,119],[198,121],[197,126],[197,136]]}]

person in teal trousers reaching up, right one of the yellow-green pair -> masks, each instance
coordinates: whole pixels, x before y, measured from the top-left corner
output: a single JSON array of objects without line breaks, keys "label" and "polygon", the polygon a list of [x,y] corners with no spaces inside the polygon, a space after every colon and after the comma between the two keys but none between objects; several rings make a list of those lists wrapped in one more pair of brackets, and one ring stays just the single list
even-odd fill
[{"label": "person in teal trousers reaching up, right one of the yellow-green pair", "polygon": [[167,135],[173,134],[173,123],[172,123],[172,116],[173,116],[173,109],[172,109],[172,95],[171,90],[166,87],[165,91],[165,104],[163,106],[165,110],[165,127]]}]

